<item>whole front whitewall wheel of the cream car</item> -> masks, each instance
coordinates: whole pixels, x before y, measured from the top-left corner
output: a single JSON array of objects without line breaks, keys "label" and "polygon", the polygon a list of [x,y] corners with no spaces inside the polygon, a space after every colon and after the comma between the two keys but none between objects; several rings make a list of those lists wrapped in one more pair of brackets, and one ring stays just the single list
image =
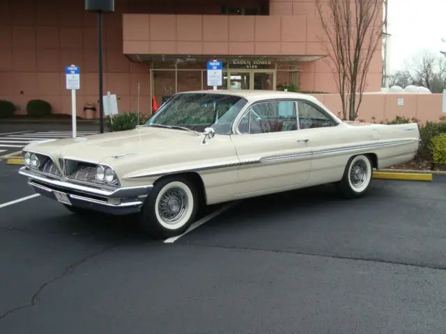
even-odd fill
[{"label": "whole front whitewall wheel of the cream car", "polygon": [[139,221],[151,237],[168,238],[190,227],[199,207],[197,187],[185,177],[166,177],[155,183],[144,202]]}]

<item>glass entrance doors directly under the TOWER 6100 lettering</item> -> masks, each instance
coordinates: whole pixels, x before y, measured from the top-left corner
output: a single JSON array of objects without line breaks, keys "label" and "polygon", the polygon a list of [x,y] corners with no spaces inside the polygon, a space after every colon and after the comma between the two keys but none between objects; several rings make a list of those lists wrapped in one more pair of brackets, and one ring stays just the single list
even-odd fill
[{"label": "glass entrance doors directly under the TOWER 6100 lettering", "polygon": [[227,89],[275,90],[275,71],[233,70],[228,72]]}]

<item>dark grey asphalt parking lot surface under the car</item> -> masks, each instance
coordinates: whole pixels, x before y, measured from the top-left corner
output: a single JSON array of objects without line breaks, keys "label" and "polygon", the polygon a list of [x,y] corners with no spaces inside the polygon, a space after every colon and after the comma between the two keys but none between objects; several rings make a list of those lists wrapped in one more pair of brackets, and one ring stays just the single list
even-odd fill
[{"label": "dark grey asphalt parking lot surface under the car", "polygon": [[445,177],[244,200],[164,243],[8,204],[33,194],[18,168],[0,161],[0,333],[444,333]]}]

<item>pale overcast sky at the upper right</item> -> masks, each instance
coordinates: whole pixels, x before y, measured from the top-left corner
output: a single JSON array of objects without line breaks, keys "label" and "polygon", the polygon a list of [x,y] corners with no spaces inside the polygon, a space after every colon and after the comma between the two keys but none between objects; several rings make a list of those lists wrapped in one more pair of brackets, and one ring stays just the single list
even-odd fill
[{"label": "pale overcast sky at the upper right", "polygon": [[446,0],[388,1],[390,72],[402,69],[404,61],[420,49],[446,49],[446,43],[440,42],[440,38],[446,38]]}]

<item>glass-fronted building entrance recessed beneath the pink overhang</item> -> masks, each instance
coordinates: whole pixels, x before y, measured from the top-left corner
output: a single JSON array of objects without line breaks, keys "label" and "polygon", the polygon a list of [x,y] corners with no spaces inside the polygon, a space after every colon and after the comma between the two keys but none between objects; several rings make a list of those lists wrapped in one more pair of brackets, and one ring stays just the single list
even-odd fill
[{"label": "glass-fronted building entrance recessed beneath the pink overhang", "polygon": [[151,102],[160,105],[171,95],[188,90],[212,89],[207,86],[206,65],[222,61],[222,86],[217,89],[298,90],[303,62],[323,56],[203,56],[203,55],[127,55],[131,61],[150,68]]}]

